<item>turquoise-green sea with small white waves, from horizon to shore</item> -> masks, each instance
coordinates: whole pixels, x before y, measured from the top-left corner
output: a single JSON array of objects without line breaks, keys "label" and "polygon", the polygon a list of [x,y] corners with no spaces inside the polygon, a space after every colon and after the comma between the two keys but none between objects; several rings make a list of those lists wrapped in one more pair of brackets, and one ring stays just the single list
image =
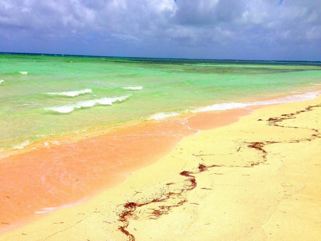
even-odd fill
[{"label": "turquoise-green sea with small white waves, from horizon to shore", "polygon": [[321,65],[0,54],[0,82],[0,149],[15,149],[49,135],[319,91]]}]

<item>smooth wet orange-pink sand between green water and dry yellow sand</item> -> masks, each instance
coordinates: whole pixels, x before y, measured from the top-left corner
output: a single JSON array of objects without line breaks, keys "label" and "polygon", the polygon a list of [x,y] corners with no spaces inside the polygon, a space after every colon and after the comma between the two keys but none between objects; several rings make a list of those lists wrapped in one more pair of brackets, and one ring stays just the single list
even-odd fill
[{"label": "smooth wet orange-pink sand between green water and dry yellow sand", "polygon": [[[89,200],[123,182],[130,172],[165,156],[197,129],[227,125],[249,113],[240,109],[144,121],[72,144],[48,141],[44,147],[4,158],[0,163],[0,230]],[[188,126],[184,125],[187,120]]]}]

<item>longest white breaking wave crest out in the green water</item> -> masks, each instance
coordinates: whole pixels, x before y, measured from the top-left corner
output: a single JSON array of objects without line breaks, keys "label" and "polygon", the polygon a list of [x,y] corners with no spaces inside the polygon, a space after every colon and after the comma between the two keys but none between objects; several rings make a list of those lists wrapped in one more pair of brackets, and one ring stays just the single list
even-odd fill
[{"label": "longest white breaking wave crest out in the green water", "polygon": [[92,107],[95,104],[112,105],[114,102],[126,100],[130,96],[131,96],[131,94],[126,94],[126,95],[116,96],[116,97],[104,97],[104,98],[100,98],[100,99],[79,101],[76,103],[70,103],[70,104],[65,104],[65,105],[45,107],[44,109],[56,111],[56,112],[60,112],[60,113],[69,113],[69,112],[72,112],[75,108],[80,109],[82,107]]}]

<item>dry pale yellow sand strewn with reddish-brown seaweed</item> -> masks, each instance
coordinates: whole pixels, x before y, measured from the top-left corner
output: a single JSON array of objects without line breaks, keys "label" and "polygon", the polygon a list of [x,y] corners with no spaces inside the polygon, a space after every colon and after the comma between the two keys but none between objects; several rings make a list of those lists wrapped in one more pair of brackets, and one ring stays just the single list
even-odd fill
[{"label": "dry pale yellow sand strewn with reddish-brown seaweed", "polygon": [[320,104],[266,106],[202,130],[91,201],[0,240],[319,240]]}]

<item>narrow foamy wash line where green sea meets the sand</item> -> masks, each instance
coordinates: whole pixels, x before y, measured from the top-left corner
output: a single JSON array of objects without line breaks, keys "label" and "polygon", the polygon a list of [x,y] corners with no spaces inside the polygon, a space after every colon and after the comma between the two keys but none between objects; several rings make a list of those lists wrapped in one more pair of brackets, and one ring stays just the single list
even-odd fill
[{"label": "narrow foamy wash line where green sea meets the sand", "polygon": [[[313,83],[311,83],[311,84],[313,84]],[[318,86],[321,84],[314,84],[314,85]],[[15,143],[10,148],[1,149],[0,150],[0,160],[6,159],[6,158],[13,156],[13,155],[27,153],[27,152],[30,152],[34,149],[43,148],[46,145],[48,145],[48,143],[51,145],[72,144],[72,143],[76,143],[76,142],[79,142],[79,141],[87,139],[87,138],[98,137],[98,136],[104,135],[104,133],[117,131],[122,128],[128,128],[128,127],[134,128],[135,125],[141,124],[142,122],[145,122],[145,121],[162,121],[162,120],[168,119],[168,118],[179,118],[179,117],[184,118],[184,116],[191,116],[193,114],[202,115],[203,113],[208,113],[208,112],[224,113],[226,111],[235,110],[235,109],[243,109],[243,108],[251,108],[252,109],[252,108],[255,108],[255,106],[265,106],[265,105],[271,105],[271,104],[291,103],[291,102],[300,102],[300,101],[305,101],[305,100],[311,100],[311,99],[317,98],[317,96],[321,94],[321,89],[315,88],[315,89],[306,90],[305,92],[299,92],[299,93],[291,92],[291,93],[292,93],[291,95],[287,94],[287,95],[270,96],[269,98],[265,98],[265,99],[262,99],[259,101],[240,102],[240,103],[234,103],[234,102],[215,103],[213,105],[191,108],[186,111],[158,112],[158,113],[150,115],[149,117],[147,117],[147,119],[144,119],[144,120],[135,119],[132,121],[126,121],[125,123],[121,123],[121,124],[119,124],[119,123],[112,124],[110,126],[95,125],[95,126],[91,126],[89,129],[84,128],[84,129],[80,129],[76,132],[64,133],[64,134],[54,134],[54,135],[50,134],[50,135],[46,136],[45,138],[40,138],[40,139],[36,139],[33,141],[30,139],[26,139],[20,143]],[[308,96],[308,95],[310,95],[310,96]],[[224,107],[224,105],[226,105],[226,106]],[[160,117],[156,117],[156,118],[154,117],[154,116],[158,116],[158,115],[160,115]],[[26,142],[28,144],[25,144]],[[19,147],[19,146],[21,146],[21,147]],[[15,148],[13,148],[13,147],[15,147]]]}]

